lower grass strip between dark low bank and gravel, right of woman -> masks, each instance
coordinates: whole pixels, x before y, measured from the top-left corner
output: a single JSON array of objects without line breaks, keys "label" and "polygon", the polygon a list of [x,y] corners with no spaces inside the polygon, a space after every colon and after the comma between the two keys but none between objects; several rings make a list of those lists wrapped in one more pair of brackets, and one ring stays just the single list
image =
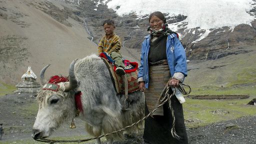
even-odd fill
[{"label": "lower grass strip between dark low bank and gravel, right of woman", "polygon": [[247,105],[248,99],[202,100],[186,98],[183,103],[184,118],[196,119],[186,122],[187,127],[204,126],[213,122],[256,115],[254,105]]}]

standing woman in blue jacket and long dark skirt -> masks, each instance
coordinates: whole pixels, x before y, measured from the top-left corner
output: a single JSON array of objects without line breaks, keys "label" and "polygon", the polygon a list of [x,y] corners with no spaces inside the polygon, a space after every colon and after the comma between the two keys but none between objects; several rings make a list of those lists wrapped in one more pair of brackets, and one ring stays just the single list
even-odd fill
[{"label": "standing woman in blue jacket and long dark skirt", "polygon": [[[138,83],[145,93],[145,114],[158,104],[165,84],[176,87],[187,75],[186,56],[177,34],[167,26],[164,15],[155,11],[149,15],[149,35],[142,42]],[[146,89],[145,89],[146,88]],[[166,102],[145,119],[143,139],[145,143],[187,143],[182,104],[176,96],[171,97],[175,116],[175,130],[179,139],[171,135],[172,116]]]}]

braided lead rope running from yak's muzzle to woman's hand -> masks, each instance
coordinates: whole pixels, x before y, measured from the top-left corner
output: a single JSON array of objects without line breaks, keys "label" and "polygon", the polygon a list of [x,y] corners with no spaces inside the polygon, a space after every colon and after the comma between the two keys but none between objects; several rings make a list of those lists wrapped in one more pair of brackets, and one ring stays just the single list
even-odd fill
[{"label": "braided lead rope running from yak's muzzle to woman's hand", "polygon": [[[186,92],[185,89],[183,88],[183,85],[187,86],[189,88],[189,92]],[[106,133],[106,134],[102,134],[102,135],[99,135],[97,137],[91,137],[91,138],[86,138],[86,139],[78,139],[78,140],[52,140],[52,139],[34,139],[34,140],[37,140],[37,141],[41,141],[41,142],[49,142],[49,144],[53,144],[53,143],[56,143],[56,142],[84,142],[84,141],[89,141],[89,140],[93,140],[93,139],[97,139],[97,138],[101,138],[103,136],[108,136],[110,134],[114,134],[114,133],[117,133],[117,132],[120,132],[120,131],[123,131],[135,124],[138,124],[139,122],[141,122],[142,120],[144,120],[145,118],[147,118],[148,116],[150,116],[158,107],[162,106],[164,103],[166,103],[168,100],[169,100],[169,107],[171,109],[171,115],[172,115],[172,118],[173,118],[173,122],[172,122],[172,127],[171,127],[171,135],[176,138],[176,139],[180,139],[181,137],[178,136],[178,134],[176,133],[175,131],[175,116],[174,116],[174,112],[173,112],[173,109],[171,107],[171,104],[170,104],[170,98],[171,96],[174,95],[174,93],[176,92],[176,89],[178,88],[180,90],[180,92],[182,94],[189,94],[190,91],[191,91],[191,88],[189,85],[187,84],[183,84],[183,83],[179,83],[178,87],[175,87],[174,91],[170,94],[169,92],[169,88],[170,86],[168,84],[166,84],[161,92],[161,95],[160,97],[162,97],[160,100],[160,102],[162,102],[161,104],[159,104],[156,108],[154,108],[151,112],[149,112],[146,116],[144,116],[143,118],[141,118],[140,120],[138,120],[137,122],[134,122],[132,123],[131,125],[128,125],[128,126],[125,126],[121,129],[118,129],[118,130],[115,130],[115,131],[112,131],[110,133]],[[163,95],[164,94],[164,95]]]}]

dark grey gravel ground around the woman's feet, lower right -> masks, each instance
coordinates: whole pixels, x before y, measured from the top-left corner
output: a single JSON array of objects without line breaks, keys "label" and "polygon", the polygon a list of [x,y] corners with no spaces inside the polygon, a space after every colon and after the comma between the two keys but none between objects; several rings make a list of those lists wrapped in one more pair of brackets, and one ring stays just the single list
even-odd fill
[{"label": "dark grey gravel ground around the woman's feet, lower right", "polygon": [[[248,144],[256,143],[256,116],[221,121],[203,127],[187,128],[188,143],[197,144]],[[157,137],[155,137],[157,138]],[[114,142],[115,144],[142,143],[141,135],[136,138]]]}]

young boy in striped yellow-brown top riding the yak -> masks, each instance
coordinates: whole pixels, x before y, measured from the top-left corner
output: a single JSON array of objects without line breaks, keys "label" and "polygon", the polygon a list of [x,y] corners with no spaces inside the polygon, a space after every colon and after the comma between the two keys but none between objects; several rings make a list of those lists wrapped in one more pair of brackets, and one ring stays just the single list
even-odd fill
[{"label": "young boy in striped yellow-brown top riding the yak", "polygon": [[107,52],[114,60],[116,66],[115,72],[119,75],[125,74],[124,64],[122,63],[122,56],[119,53],[121,48],[120,37],[114,33],[114,21],[107,19],[103,22],[105,36],[103,36],[98,43],[98,54]]}]

